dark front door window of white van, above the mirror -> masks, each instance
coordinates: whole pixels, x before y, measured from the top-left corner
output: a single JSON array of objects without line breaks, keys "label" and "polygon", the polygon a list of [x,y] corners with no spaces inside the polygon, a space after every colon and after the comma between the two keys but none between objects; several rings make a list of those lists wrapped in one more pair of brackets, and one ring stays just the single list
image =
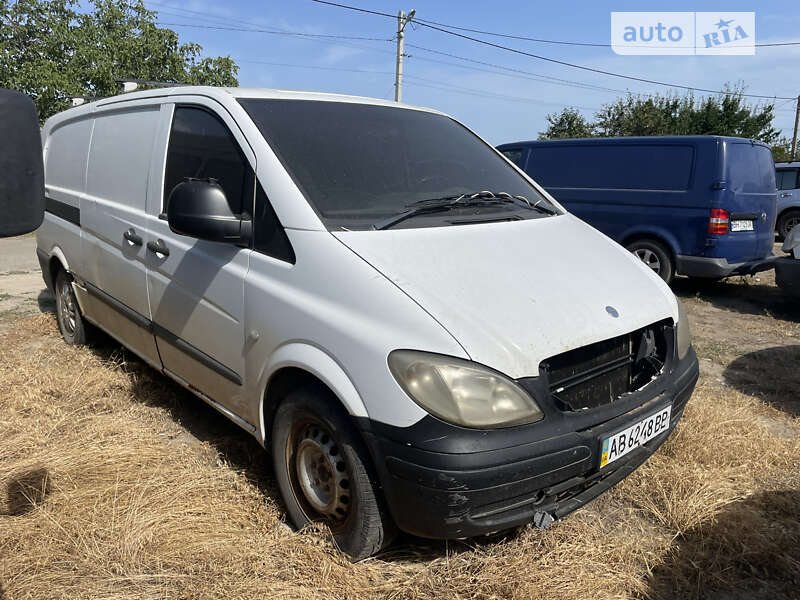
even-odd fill
[{"label": "dark front door window of white van, above the mirror", "polygon": [[231,211],[250,213],[253,169],[225,123],[203,108],[176,106],[164,174],[164,212],[170,192],[186,177],[216,179]]}]

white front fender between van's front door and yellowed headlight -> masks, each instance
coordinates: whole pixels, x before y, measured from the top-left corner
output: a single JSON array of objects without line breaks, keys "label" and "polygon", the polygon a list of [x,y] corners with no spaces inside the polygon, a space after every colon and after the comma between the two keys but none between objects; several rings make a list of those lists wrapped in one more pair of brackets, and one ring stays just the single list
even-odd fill
[{"label": "white front fender between van's front door and yellowed headlight", "polygon": [[[245,287],[248,395],[299,367],[327,383],[354,416],[405,427],[427,413],[395,381],[397,348],[468,358],[398,286],[327,231],[287,230],[294,265],[254,252]],[[258,405],[248,418],[260,419]],[[262,426],[263,428],[263,426]],[[263,431],[263,429],[262,429]]]}]

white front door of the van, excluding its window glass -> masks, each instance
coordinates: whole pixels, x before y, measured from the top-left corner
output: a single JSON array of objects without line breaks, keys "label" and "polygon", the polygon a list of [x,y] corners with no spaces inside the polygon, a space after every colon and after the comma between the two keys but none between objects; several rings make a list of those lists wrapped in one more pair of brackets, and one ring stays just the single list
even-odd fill
[{"label": "white front door of the van, excluding its window glass", "polygon": [[[235,121],[217,102],[177,97],[176,103],[205,106],[234,134],[251,164]],[[147,252],[147,289],[164,368],[215,402],[247,413],[244,379],[244,279],[250,250],[198,240],[170,231],[164,209],[164,169],[175,104],[162,105],[158,144],[152,152],[148,193],[148,241],[161,240],[169,254]]]}]

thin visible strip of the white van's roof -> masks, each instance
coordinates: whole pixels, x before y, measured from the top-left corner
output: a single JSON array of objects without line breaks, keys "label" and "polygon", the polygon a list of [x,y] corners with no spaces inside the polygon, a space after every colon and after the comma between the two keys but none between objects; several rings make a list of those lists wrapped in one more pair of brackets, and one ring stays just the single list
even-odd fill
[{"label": "thin visible strip of the white van's roof", "polygon": [[[74,108],[68,108],[62,112],[57,113],[51,119],[56,121],[69,120],[77,117],[78,115],[95,112],[97,109],[110,104],[118,104],[121,102],[131,102],[135,100],[144,100],[147,98],[163,98],[165,96],[206,96],[216,100],[225,101],[231,98],[271,98],[283,100],[317,100],[321,102],[349,102],[353,104],[369,104],[374,106],[390,106],[393,108],[405,108],[411,110],[421,110],[430,113],[444,114],[432,108],[425,108],[420,106],[412,106],[409,104],[401,104],[392,102],[390,100],[383,100],[381,98],[368,98],[364,96],[349,96],[345,94],[329,94],[325,92],[303,92],[293,90],[277,90],[268,88],[243,88],[243,87],[214,87],[214,86],[195,86],[195,85],[182,85],[175,87],[155,88],[151,90],[141,90],[137,92],[128,92],[118,94],[116,96],[109,96],[107,98],[100,98],[86,104]],[[48,119],[49,120],[49,119]]]}]

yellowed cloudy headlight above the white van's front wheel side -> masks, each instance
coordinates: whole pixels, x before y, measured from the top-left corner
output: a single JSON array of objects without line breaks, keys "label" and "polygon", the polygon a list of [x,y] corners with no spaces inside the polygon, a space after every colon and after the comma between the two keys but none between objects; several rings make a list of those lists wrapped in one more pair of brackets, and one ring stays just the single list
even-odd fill
[{"label": "yellowed cloudy headlight above the white van's front wheel side", "polygon": [[466,427],[507,427],[539,421],[536,401],[508,377],[440,354],[395,350],[389,369],[411,398],[444,421]]}]

